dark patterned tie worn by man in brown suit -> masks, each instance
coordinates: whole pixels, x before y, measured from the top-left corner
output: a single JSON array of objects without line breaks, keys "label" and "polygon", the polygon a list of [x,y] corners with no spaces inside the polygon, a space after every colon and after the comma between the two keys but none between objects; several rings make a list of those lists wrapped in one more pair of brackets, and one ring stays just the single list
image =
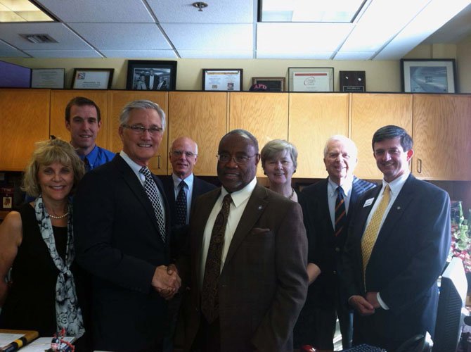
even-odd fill
[{"label": "dark patterned tie worn by man in brown suit", "polygon": [[231,194],[226,194],[222,201],[221,211],[214,221],[207,250],[201,291],[201,312],[209,323],[214,322],[219,316],[219,274],[221,273],[222,247],[224,246],[224,234],[226,233],[231,201]]}]

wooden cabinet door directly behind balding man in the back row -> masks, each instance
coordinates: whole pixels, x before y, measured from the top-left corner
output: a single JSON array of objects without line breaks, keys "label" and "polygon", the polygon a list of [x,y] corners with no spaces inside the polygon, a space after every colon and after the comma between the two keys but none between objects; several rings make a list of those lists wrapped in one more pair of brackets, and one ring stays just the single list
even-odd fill
[{"label": "wooden cabinet door directly behind balding man in the back row", "polygon": [[198,144],[195,175],[217,175],[217,147],[226,131],[226,92],[170,92],[169,147],[174,139],[182,136],[188,136]]}]

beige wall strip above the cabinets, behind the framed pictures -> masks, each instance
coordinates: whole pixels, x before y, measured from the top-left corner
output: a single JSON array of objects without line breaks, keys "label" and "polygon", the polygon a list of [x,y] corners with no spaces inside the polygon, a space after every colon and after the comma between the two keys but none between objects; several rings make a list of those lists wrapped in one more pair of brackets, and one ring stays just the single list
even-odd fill
[{"label": "beige wall strip above the cabinets, behind the framed pictures", "polygon": [[[471,93],[471,37],[456,44],[419,45],[405,58],[456,58],[460,76],[459,92]],[[126,87],[127,60],[123,58],[83,58],[83,59],[4,59],[11,63],[30,68],[65,68],[65,88],[70,88],[74,68],[114,68],[113,89]],[[333,67],[335,91],[340,87],[340,70],[366,71],[368,92],[401,92],[401,69],[399,61],[320,61],[320,60],[215,60],[177,59],[177,90],[201,90],[202,68],[242,68],[243,90],[248,90],[252,77],[286,77],[288,84],[289,67]]]}]

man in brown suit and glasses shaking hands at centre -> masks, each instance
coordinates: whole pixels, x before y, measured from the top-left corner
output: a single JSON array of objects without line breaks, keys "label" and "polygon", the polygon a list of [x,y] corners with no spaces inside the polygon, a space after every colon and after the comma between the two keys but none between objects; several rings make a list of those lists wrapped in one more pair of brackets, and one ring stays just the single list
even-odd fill
[{"label": "man in brown suit and glasses shaking hands at centre", "polygon": [[185,351],[292,351],[307,294],[302,210],[257,184],[260,155],[250,132],[228,132],[217,157],[222,187],[196,200],[191,261],[179,268],[183,275],[191,268]]}]

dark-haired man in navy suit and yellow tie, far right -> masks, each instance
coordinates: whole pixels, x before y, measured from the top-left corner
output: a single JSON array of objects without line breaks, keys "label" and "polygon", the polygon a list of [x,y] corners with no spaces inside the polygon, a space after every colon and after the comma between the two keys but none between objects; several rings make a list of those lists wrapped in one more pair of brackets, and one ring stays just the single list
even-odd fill
[{"label": "dark-haired man in navy suit and yellow tie, far right", "polygon": [[450,249],[450,199],[409,171],[413,142],[398,126],[373,135],[382,187],[363,194],[344,252],[354,345],[395,351],[416,334],[433,337],[437,278]]}]

